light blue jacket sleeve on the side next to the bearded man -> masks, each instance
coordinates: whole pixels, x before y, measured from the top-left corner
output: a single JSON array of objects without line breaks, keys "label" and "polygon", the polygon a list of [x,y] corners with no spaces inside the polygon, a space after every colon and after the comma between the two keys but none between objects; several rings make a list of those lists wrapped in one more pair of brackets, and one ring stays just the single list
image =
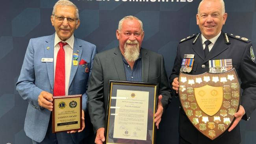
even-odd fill
[{"label": "light blue jacket sleeve on the side next to the bearded man", "polygon": [[[93,68],[93,61],[94,61],[94,57],[95,57],[95,55],[97,54],[97,49],[96,49],[96,46],[95,45],[93,45],[93,53],[92,53],[92,55],[91,55],[91,66],[90,66],[90,68],[89,68],[89,79],[90,79],[90,77],[91,77],[91,71],[92,71],[92,68]],[[86,91],[85,91],[85,93],[82,95],[82,109],[85,111],[85,109],[87,109],[87,99],[88,99],[88,92],[87,92],[87,90],[88,90],[88,83],[87,83],[87,85],[86,85]]]}]

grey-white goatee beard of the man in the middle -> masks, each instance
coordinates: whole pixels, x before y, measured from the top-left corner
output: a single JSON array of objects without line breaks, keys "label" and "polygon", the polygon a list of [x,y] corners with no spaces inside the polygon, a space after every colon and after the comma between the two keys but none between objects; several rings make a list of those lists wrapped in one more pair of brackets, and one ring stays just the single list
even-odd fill
[{"label": "grey-white goatee beard of the man in the middle", "polygon": [[[136,44],[134,46],[128,44]],[[124,57],[126,61],[134,62],[139,58],[139,42],[127,40],[124,44]]]}]

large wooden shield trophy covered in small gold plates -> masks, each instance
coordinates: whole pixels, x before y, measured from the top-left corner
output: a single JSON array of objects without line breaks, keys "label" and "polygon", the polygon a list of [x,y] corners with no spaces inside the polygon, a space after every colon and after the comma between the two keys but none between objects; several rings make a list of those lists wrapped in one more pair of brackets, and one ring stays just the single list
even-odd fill
[{"label": "large wooden shield trophy covered in small gold plates", "polygon": [[[189,79],[200,83],[180,81]],[[207,78],[207,79],[206,79]],[[226,79],[225,82],[219,79]],[[240,85],[236,70],[200,75],[189,75],[180,72],[179,89],[180,105],[193,126],[203,135],[214,140],[228,130],[234,120],[234,113],[240,105]]]}]

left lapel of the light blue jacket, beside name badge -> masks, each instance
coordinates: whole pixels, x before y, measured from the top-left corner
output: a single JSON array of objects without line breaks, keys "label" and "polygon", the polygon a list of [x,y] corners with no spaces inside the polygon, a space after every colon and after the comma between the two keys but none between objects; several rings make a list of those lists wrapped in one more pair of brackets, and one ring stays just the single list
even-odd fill
[{"label": "left lapel of the light blue jacket, beside name badge", "polygon": [[[45,41],[44,45],[44,51],[45,51],[45,57],[46,58],[53,58],[54,59],[54,35],[51,35],[50,39]],[[49,48],[50,49],[49,49]],[[52,63],[46,63],[46,70],[48,73],[48,78],[50,81],[50,85],[53,89],[53,83],[54,83],[54,61]]]}]

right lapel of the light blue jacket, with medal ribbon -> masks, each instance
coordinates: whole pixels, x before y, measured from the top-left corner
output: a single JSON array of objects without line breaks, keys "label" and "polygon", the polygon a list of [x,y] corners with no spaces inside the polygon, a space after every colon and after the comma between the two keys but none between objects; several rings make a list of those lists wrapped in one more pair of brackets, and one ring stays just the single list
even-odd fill
[{"label": "right lapel of the light blue jacket, with medal ribbon", "polygon": [[[82,52],[83,52],[83,49],[82,49],[82,44],[80,44],[76,37],[74,37],[74,48],[73,48],[73,53],[76,53],[78,54],[78,63],[80,62],[81,60],[81,57],[82,57]],[[70,70],[70,76],[69,76],[69,87],[74,79],[74,76],[76,75],[76,70],[78,68],[78,65],[77,66],[74,66],[73,65],[73,56],[72,56],[72,64],[71,64],[71,70]]]}]

